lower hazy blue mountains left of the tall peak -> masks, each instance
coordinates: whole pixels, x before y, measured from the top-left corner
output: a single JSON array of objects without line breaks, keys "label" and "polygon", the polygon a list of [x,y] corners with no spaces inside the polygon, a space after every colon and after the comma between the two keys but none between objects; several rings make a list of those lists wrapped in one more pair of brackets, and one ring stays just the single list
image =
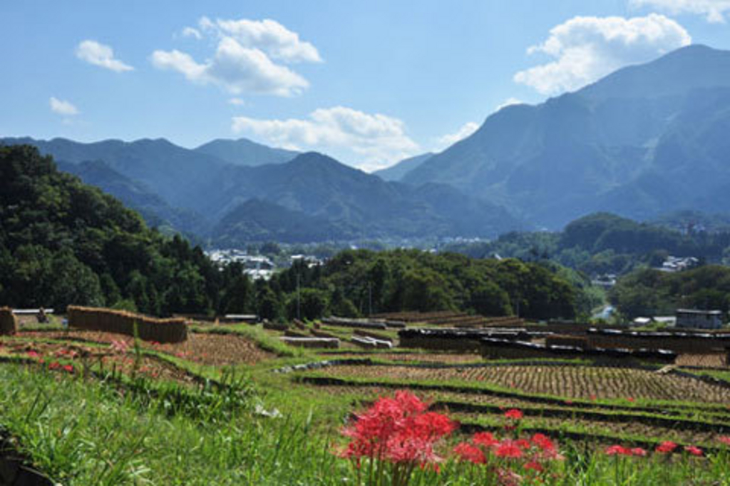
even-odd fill
[{"label": "lower hazy blue mountains left of the tall peak", "polygon": [[[245,139],[216,140],[193,150],[164,139],[0,143],[35,145],[53,155],[61,170],[120,198],[148,223],[215,246],[485,237],[524,227],[504,208],[450,186],[383,181],[320,153],[286,152]],[[247,154],[252,147],[255,153]],[[289,156],[293,159],[285,161]]]}]

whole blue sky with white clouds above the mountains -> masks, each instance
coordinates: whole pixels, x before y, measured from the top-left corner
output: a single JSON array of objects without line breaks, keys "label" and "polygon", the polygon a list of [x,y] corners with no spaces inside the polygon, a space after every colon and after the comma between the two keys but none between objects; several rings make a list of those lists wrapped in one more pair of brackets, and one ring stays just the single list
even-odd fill
[{"label": "whole blue sky with white clouds above the mountains", "polygon": [[0,135],[214,138],[365,170],[689,42],[730,0],[5,1]]}]

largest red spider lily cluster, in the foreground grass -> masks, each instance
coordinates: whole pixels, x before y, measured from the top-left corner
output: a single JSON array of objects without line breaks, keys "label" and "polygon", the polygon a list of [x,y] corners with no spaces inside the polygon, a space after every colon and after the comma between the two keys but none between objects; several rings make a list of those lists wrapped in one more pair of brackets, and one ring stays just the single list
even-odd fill
[{"label": "largest red spider lily cluster, in the foreground grass", "polygon": [[379,398],[351,427],[342,430],[352,440],[342,457],[385,460],[389,463],[426,466],[440,457],[434,445],[456,428],[442,414],[426,411],[427,405],[406,391],[395,398]]}]

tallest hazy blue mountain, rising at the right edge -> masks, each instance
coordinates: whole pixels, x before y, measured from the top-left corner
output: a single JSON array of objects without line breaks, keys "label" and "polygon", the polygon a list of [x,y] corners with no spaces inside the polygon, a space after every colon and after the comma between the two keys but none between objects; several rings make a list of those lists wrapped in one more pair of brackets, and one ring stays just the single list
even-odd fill
[{"label": "tallest hazy blue mountain, rising at the right edge", "polygon": [[[448,183],[561,227],[610,210],[723,210],[730,53],[690,46],[537,106],[513,105],[403,181]],[[702,190],[698,190],[702,188]]]}]

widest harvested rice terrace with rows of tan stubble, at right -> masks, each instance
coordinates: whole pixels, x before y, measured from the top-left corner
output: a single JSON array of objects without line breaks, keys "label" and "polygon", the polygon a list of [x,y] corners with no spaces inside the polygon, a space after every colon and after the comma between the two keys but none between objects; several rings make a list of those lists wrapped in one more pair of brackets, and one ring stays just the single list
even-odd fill
[{"label": "widest harvested rice terrace with rows of tan stubble, at right", "polygon": [[496,384],[520,392],[565,398],[625,398],[691,400],[730,404],[730,390],[698,379],[633,368],[578,365],[428,368],[342,365],[331,376],[388,378],[404,381],[472,381]]}]

